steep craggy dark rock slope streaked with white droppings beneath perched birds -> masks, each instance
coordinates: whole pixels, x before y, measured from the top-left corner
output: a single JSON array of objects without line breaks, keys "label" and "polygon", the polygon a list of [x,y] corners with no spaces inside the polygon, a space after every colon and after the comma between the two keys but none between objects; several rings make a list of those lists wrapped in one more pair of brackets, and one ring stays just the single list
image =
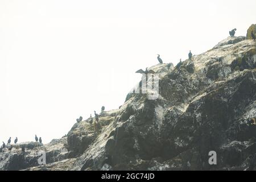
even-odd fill
[{"label": "steep craggy dark rock slope streaked with white droppings beneath perched birds", "polygon": [[[76,123],[67,137],[26,152],[0,153],[1,170],[255,170],[256,43],[223,40],[185,60],[179,69],[158,64],[159,97],[128,94],[99,117],[102,130]],[[95,121],[95,118],[93,118]],[[39,166],[38,151],[47,152]],[[209,164],[209,152],[217,165]]]}]

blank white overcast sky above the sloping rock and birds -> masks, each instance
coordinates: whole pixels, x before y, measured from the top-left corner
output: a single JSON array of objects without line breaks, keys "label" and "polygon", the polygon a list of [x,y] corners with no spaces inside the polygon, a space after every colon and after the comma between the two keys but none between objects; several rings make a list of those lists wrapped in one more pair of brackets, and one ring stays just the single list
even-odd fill
[{"label": "blank white overcast sky above the sloping rock and birds", "polygon": [[117,109],[135,71],[187,59],[256,23],[256,1],[0,0],[0,142],[43,142]]}]

